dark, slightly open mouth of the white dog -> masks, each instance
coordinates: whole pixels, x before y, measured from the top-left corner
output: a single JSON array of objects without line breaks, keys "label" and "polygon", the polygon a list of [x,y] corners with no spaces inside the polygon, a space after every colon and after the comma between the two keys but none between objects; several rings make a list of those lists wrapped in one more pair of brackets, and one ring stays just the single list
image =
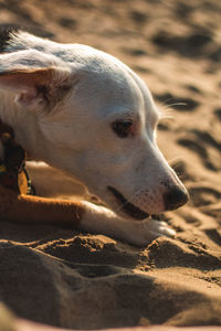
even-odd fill
[{"label": "dark, slightly open mouth of the white dog", "polygon": [[122,210],[127,213],[129,216],[136,220],[145,220],[149,217],[149,214],[141,211],[133,203],[130,203],[122,193],[119,193],[113,186],[107,186],[107,189],[114,194],[114,196],[120,202]]}]

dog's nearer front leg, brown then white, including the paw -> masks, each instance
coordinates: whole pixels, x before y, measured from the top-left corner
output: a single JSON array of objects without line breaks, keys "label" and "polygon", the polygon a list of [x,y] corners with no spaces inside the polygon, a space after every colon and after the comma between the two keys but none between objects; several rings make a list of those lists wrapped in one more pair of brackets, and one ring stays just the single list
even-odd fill
[{"label": "dog's nearer front leg, brown then white, including the paw", "polygon": [[144,246],[160,235],[175,234],[164,223],[125,220],[106,207],[86,201],[18,195],[2,186],[0,186],[0,216],[14,223],[59,224],[101,233],[137,246]]}]

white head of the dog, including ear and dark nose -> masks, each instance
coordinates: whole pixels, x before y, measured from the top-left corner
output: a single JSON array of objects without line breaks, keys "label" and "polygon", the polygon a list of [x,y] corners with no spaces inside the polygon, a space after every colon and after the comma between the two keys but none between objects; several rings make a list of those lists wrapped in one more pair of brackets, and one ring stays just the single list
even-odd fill
[{"label": "white head of the dog, including ear and dark nose", "polygon": [[36,158],[123,216],[141,220],[185,204],[187,191],[157,147],[160,113],[144,82],[106,53],[56,45],[0,56],[0,87],[15,93],[41,132],[45,150]]}]

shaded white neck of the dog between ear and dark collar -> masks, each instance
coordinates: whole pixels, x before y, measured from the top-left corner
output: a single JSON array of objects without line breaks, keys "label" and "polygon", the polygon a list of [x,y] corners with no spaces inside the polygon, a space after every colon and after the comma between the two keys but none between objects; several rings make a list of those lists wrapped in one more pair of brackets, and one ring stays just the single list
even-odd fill
[{"label": "shaded white neck of the dog between ear and dark collar", "polygon": [[44,137],[38,134],[39,125],[34,114],[17,104],[14,95],[10,93],[0,92],[0,100],[1,121],[13,129],[15,141],[22,146],[32,159],[42,160],[42,157],[45,156],[45,143]]}]

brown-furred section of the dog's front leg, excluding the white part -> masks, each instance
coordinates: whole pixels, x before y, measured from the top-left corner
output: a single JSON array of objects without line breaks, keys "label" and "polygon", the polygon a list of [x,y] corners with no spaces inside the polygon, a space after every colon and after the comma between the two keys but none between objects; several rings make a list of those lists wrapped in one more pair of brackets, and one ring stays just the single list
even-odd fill
[{"label": "brown-furred section of the dog's front leg, excluding the white part", "polygon": [[69,224],[77,227],[84,213],[81,202],[17,194],[0,186],[0,217],[28,224]]}]

